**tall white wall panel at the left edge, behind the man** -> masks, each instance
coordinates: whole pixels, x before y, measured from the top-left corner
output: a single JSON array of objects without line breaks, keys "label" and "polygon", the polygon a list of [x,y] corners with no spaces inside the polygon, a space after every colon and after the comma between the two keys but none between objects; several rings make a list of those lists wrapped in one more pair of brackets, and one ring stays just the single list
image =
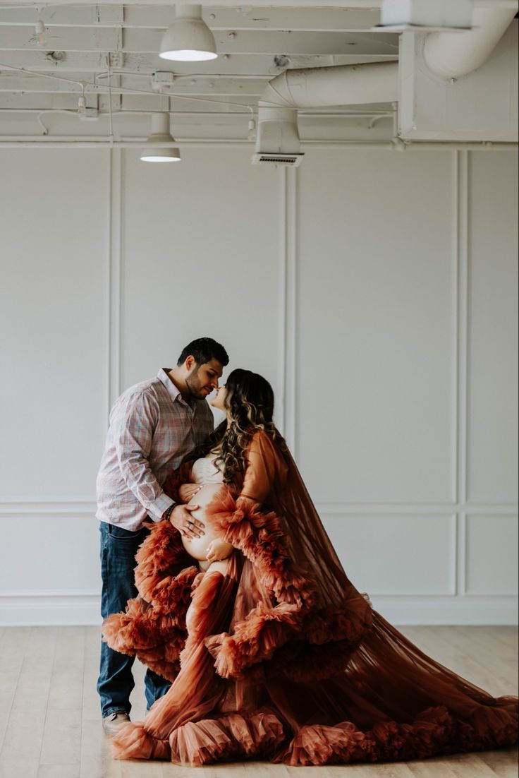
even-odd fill
[{"label": "tall white wall panel at the left edge, behind the man", "polygon": [[2,499],[92,499],[103,439],[107,152],[2,150]]}]

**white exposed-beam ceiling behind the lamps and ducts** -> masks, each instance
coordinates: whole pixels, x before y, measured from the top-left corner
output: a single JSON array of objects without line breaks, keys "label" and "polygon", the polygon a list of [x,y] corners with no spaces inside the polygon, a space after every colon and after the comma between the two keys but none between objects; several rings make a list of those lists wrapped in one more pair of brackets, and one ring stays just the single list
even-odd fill
[{"label": "white exposed-beam ceiling behind the lamps and ducts", "polygon": [[[499,5],[513,3],[499,0]],[[106,134],[109,65],[116,135],[147,135],[146,114],[169,110],[178,135],[246,138],[249,107],[256,109],[266,82],[285,68],[397,59],[398,35],[371,30],[379,22],[378,6],[373,0],[326,0],[326,6],[315,0],[256,0],[254,5],[208,0],[204,19],[213,30],[218,59],[176,63],[157,54],[175,16],[173,5],[0,0],[0,138],[44,131],[82,138]],[[41,46],[34,37],[38,19],[46,26]],[[78,119],[83,89],[92,121]],[[352,114],[390,110],[337,107],[307,112],[306,121],[315,126],[319,116],[323,128],[333,127],[351,122]],[[305,115],[301,119],[304,134]],[[357,115],[353,121],[367,125],[371,120]]]}]

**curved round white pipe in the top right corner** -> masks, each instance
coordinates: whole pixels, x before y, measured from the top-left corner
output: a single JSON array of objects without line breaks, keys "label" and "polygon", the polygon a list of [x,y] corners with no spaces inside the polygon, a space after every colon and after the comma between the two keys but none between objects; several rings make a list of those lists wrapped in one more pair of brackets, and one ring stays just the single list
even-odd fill
[{"label": "curved round white pipe in the top right corner", "polygon": [[423,42],[427,68],[442,79],[460,79],[492,54],[517,12],[513,8],[475,8],[472,30],[430,33]]}]

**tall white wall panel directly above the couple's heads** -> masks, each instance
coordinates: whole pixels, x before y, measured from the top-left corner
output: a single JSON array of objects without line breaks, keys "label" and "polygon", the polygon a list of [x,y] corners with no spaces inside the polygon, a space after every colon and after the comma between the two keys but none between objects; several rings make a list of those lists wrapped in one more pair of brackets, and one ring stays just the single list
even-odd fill
[{"label": "tall white wall panel directly above the couple's heads", "polygon": [[123,385],[173,366],[193,338],[277,397],[283,316],[279,176],[249,150],[186,149],[182,164],[124,167]]}]

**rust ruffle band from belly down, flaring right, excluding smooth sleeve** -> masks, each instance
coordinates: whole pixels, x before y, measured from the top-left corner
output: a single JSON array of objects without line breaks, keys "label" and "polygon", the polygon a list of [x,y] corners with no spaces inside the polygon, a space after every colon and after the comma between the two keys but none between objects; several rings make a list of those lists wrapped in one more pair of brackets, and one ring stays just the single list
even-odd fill
[{"label": "rust ruffle band from belly down, flaring right, excluding smooth sleeve", "polygon": [[284,673],[289,678],[326,678],[348,664],[371,626],[371,605],[354,587],[341,608],[319,608],[319,591],[308,570],[294,566],[281,518],[262,512],[252,499],[216,496],[206,515],[225,540],[254,566],[273,605],[260,602],[232,633],[207,636],[205,645],[222,678],[258,682]]}]

